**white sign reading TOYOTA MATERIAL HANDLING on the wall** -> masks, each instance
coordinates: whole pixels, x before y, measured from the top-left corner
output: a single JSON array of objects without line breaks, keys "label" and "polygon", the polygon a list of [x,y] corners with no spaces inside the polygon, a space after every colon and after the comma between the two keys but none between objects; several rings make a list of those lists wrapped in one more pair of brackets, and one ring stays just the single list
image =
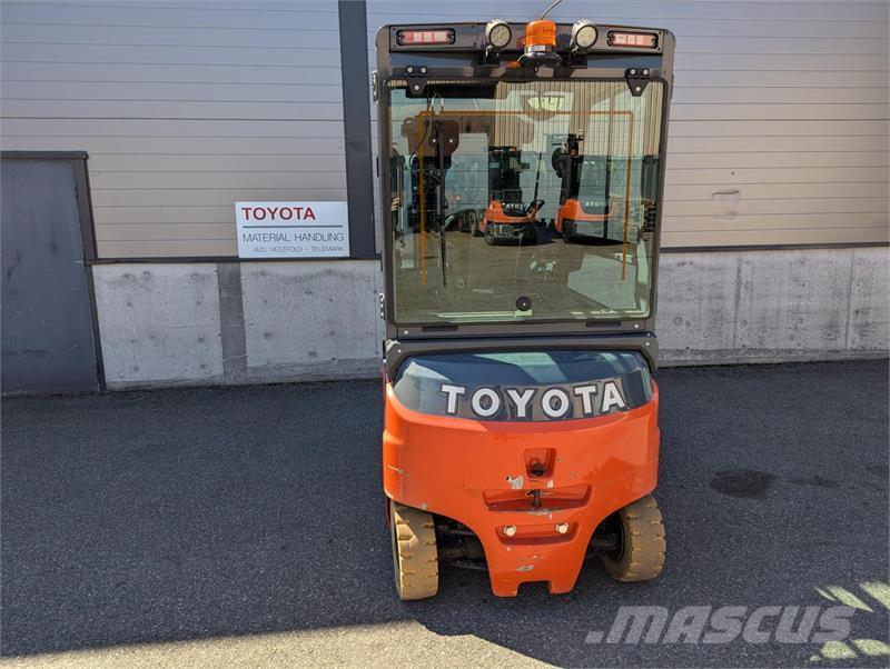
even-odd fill
[{"label": "white sign reading TOYOTA MATERIAL HANDLING on the wall", "polygon": [[349,256],[346,202],[236,202],[239,258]]}]

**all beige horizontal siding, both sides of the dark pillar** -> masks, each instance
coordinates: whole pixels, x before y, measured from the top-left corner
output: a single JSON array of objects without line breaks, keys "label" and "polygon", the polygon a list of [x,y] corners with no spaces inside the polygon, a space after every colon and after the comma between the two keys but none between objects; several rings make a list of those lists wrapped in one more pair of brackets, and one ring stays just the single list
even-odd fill
[{"label": "all beige horizontal siding, both sides of the dark pillar", "polygon": [[[370,0],[368,44],[386,22],[546,3]],[[90,153],[100,256],[231,256],[237,200],[346,199],[336,2],[0,11],[0,146]],[[678,36],[665,244],[888,239],[888,2],[566,0],[554,17],[585,12]]]}]

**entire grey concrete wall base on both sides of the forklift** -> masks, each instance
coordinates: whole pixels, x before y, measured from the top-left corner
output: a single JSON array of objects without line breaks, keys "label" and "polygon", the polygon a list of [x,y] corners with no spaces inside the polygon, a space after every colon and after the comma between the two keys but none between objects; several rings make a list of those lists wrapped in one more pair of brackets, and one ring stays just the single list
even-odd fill
[{"label": "entire grey concrete wall base on both sides of the forklift", "polygon": [[[93,267],[108,387],[379,373],[377,261]],[[663,365],[886,356],[887,248],[665,253]]]}]

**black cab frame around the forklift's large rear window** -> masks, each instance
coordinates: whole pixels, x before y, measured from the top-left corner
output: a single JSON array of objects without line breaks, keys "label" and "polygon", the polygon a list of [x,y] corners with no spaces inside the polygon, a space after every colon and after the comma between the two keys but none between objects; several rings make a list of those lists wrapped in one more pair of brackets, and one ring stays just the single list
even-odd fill
[{"label": "black cab frame around the forklift's large rear window", "polygon": [[[627,26],[603,26],[595,23],[600,36],[596,43],[586,53],[583,62],[566,59],[557,67],[513,67],[508,62],[486,62],[485,51],[486,22],[472,23],[428,23],[428,24],[389,24],[383,26],[376,34],[377,60],[376,70],[372,74],[372,86],[377,101],[378,148],[390,144],[389,92],[393,84],[407,87],[407,82],[448,80],[457,84],[487,86],[498,81],[541,81],[541,80],[584,80],[584,81],[625,81],[640,77],[647,70],[649,81],[660,81],[664,90],[662,106],[661,132],[666,138],[670,99],[673,89],[674,37],[664,29],[639,28]],[[571,39],[571,23],[557,23],[557,50],[567,50]],[[523,23],[511,23],[514,42],[524,31]],[[398,44],[396,34],[399,30],[454,30],[453,44]],[[619,48],[602,46],[612,30],[652,32],[659,36],[656,49]],[[511,43],[504,53],[518,53],[518,44]],[[632,74],[633,72],[633,74]],[[419,97],[419,96],[418,96]],[[660,162],[665,164],[666,139],[660,147]],[[377,173],[379,192],[389,192],[389,170],[384,169],[378,149]],[[664,169],[659,174],[659,201],[663,201]],[[385,226],[388,204],[379,198],[379,220]],[[468,323],[398,323],[395,320],[393,299],[393,240],[384,229],[382,238],[384,249],[380,262],[384,270],[384,293],[382,294],[382,317],[385,320],[384,359],[387,367],[397,367],[408,355],[428,350],[504,350],[527,348],[535,341],[541,345],[560,348],[626,348],[642,352],[654,369],[656,365],[657,343],[655,341],[655,312],[659,280],[659,254],[661,250],[662,208],[657,210],[655,237],[653,240],[651,309],[644,319],[624,320],[554,320],[522,322],[468,322]],[[622,343],[623,342],[623,343]],[[394,371],[390,369],[390,372]]]}]

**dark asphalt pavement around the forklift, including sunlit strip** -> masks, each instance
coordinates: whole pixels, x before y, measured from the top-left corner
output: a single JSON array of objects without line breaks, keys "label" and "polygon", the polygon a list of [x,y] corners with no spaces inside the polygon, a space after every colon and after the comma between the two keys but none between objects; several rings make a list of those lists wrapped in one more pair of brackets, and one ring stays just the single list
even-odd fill
[{"label": "dark asphalt pavement around the forklift, including sunlit strip", "polygon": [[[40,666],[887,666],[890,596],[873,585],[888,580],[887,363],[659,380],[660,580],[620,585],[591,563],[568,596],[533,586],[503,600],[483,573],[453,570],[436,599],[413,603],[390,583],[378,382],[7,399],[3,655]],[[859,608],[850,639],[824,648],[585,643],[621,605],[837,601]]]}]

